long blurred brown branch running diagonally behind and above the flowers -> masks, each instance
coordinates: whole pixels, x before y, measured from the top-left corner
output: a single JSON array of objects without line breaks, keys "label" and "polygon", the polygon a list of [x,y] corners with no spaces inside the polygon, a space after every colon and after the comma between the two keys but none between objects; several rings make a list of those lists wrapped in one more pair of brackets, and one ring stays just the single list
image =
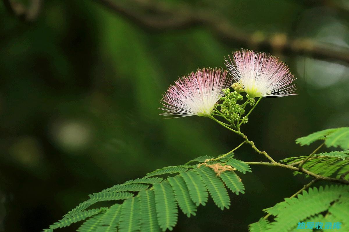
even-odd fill
[{"label": "long blurred brown branch running diagonally behind and above the flowers", "polygon": [[[204,26],[221,40],[235,43],[237,46],[273,50],[283,54],[311,56],[318,59],[333,59],[349,63],[349,49],[337,45],[311,40],[309,38],[291,38],[278,33],[267,36],[261,31],[248,33],[231,24],[220,15],[203,9],[192,9],[187,5],[169,7],[163,2],[151,0],[130,0],[125,2],[112,0],[93,0],[131,20],[145,29],[168,31],[193,26]],[[137,9],[137,10],[136,10]]]}]

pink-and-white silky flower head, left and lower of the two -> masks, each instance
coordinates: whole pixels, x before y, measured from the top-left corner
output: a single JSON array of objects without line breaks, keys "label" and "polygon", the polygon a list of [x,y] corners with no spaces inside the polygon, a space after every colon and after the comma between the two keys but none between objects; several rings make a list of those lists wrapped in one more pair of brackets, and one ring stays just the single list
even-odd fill
[{"label": "pink-and-white silky flower head, left and lower of the two", "polygon": [[178,78],[163,95],[164,111],[170,118],[191,115],[208,116],[215,103],[224,95],[222,89],[230,84],[227,72],[220,69],[198,69]]}]

